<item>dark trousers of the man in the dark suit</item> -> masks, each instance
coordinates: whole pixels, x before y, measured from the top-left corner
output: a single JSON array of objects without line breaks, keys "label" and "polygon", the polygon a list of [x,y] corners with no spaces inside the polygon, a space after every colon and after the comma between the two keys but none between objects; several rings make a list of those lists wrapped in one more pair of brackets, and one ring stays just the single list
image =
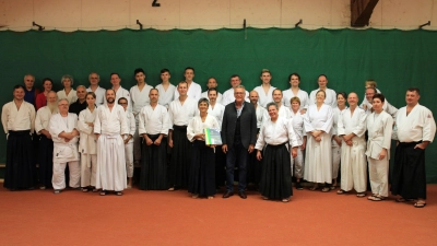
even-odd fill
[{"label": "dark trousers of the man in the dark suit", "polygon": [[238,191],[245,191],[247,178],[247,149],[241,143],[235,143],[226,154],[226,189],[234,190],[234,168],[238,160]]}]

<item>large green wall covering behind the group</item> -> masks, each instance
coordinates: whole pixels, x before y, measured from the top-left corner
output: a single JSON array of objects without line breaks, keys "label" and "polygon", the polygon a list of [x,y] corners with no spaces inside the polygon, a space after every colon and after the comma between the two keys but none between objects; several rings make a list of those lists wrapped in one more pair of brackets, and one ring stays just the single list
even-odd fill
[{"label": "large green wall covering behind the group", "polygon": [[[101,85],[109,87],[109,73],[121,75],[123,87],[134,85],[133,70],[143,68],[149,84],[160,82],[160,70],[172,71],[172,82],[182,80],[184,69],[196,69],[194,81],[205,87],[215,77],[218,89],[229,87],[229,77],[238,73],[248,89],[260,83],[261,69],[270,69],[272,84],[288,86],[287,77],[298,72],[302,89],[317,87],[317,77],[326,73],[335,91],[364,95],[364,81],[375,79],[378,87],[397,107],[404,106],[405,90],[418,86],[421,104],[436,115],[437,32],[381,30],[217,30],[217,31],[58,31],[0,32],[0,104],[12,99],[12,86],[25,73],[55,80],[69,73],[74,85],[87,85],[87,75],[101,74]],[[361,98],[362,99],[362,98]],[[5,138],[0,138],[0,163],[5,160]],[[437,183],[437,144],[428,147],[428,181]]]}]

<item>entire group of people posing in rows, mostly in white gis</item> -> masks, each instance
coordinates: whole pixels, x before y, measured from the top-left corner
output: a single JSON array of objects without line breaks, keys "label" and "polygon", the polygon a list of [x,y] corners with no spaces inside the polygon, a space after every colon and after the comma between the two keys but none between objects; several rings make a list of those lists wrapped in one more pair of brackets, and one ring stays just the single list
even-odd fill
[{"label": "entire group of people posing in rows, mostly in white gis", "polygon": [[[432,112],[418,104],[418,89],[406,91],[406,106],[398,110],[371,80],[358,104],[356,93],[328,89],[324,74],[309,95],[299,89],[297,73],[288,77],[290,89],[281,91],[264,69],[261,85],[250,92],[234,74],[223,94],[214,78],[202,93],[193,68],[186,68],[184,75],[175,86],[163,69],[162,83],[152,87],[145,72],[135,69],[137,85],[130,91],[121,87],[117,73],[110,74],[108,90],[98,86],[95,72],[87,89],[73,90],[73,78],[63,75],[63,90],[57,93],[50,79],[43,80],[44,91],[38,92],[34,77],[25,75],[25,86],[14,87],[13,101],[2,110],[8,134],[4,187],[34,187],[37,139],[38,181],[40,188],[52,186],[55,194],[66,188],[67,164],[70,187],[102,196],[121,196],[132,187],[134,166],[140,166],[140,189],[184,188],[193,198],[212,199],[216,187],[225,185],[223,198],[229,198],[238,172],[240,198],[247,198],[251,183],[263,199],[283,202],[293,195],[293,176],[298,190],[305,179],[314,184],[310,190],[327,192],[336,189],[339,169],[336,194],[355,189],[357,197],[365,197],[368,168],[367,199],[381,201],[389,196],[394,139],[391,192],[400,195],[399,202],[426,206],[424,150],[434,140],[436,125]],[[217,129],[221,144],[205,144],[205,129]]]}]

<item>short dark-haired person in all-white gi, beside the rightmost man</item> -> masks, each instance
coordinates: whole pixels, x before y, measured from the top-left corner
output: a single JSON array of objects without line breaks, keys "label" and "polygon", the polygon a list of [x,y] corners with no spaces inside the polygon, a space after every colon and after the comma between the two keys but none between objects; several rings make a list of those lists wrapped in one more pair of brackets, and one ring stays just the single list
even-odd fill
[{"label": "short dark-haired person in all-white gi, beside the rightmost man", "polygon": [[374,113],[367,116],[367,162],[369,168],[371,196],[367,199],[381,201],[389,196],[389,160],[393,118],[382,109],[386,97],[375,94],[371,106]]}]

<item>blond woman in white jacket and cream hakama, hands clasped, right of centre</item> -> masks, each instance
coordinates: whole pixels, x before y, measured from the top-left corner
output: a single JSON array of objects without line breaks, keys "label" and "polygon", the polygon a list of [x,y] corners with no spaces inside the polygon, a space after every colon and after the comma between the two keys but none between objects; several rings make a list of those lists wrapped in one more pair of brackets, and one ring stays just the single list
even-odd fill
[{"label": "blond woman in white jacket and cream hakama, hands clasped, right of centre", "polygon": [[326,184],[321,190],[328,192],[332,181],[332,107],[324,104],[326,93],[320,90],[316,93],[316,104],[308,107],[304,117],[307,132],[307,151],[305,159],[304,178],[315,183],[310,190],[317,190],[318,184]]}]

